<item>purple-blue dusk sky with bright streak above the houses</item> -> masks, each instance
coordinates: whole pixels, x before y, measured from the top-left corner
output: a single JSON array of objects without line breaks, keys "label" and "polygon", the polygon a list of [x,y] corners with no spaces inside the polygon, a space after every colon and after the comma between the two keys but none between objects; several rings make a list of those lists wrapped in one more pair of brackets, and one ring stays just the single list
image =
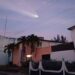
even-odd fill
[{"label": "purple-blue dusk sky with bright streak above the houses", "polygon": [[67,28],[73,25],[75,0],[0,0],[0,35],[53,39],[59,34],[71,40]]}]

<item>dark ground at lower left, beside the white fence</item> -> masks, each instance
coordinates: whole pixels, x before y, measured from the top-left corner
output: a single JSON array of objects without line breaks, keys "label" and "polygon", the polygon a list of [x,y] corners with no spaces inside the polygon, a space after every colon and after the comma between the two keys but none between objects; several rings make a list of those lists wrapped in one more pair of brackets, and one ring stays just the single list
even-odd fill
[{"label": "dark ground at lower left, beside the white fence", "polygon": [[0,75],[28,75],[28,67],[0,66]]}]

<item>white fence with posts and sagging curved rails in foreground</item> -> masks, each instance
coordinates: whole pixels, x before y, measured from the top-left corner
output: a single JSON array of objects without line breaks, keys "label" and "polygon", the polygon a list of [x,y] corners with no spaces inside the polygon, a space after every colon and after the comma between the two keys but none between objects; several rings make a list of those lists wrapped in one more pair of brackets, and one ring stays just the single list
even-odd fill
[{"label": "white fence with posts and sagging curved rails in foreground", "polygon": [[60,70],[45,70],[42,61],[39,62],[39,67],[34,69],[32,62],[29,64],[29,75],[75,75],[75,72],[69,72],[64,59],[62,60],[62,67]]}]

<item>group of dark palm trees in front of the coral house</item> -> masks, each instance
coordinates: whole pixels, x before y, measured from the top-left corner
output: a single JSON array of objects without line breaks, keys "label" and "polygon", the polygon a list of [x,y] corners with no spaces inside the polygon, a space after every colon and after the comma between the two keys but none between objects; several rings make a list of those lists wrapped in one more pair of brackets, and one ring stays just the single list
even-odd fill
[{"label": "group of dark palm trees in front of the coral house", "polygon": [[[18,43],[22,44],[22,50],[21,50],[21,63],[25,63],[24,61],[26,56],[26,45],[31,47],[31,55],[36,51],[36,48],[41,45],[40,38],[34,34],[26,36],[21,36],[17,39]],[[8,61],[10,61],[10,56],[12,51],[14,50],[14,47],[17,46],[17,44],[11,43],[5,46],[4,52],[8,53]],[[36,52],[35,52],[36,53]]]}]

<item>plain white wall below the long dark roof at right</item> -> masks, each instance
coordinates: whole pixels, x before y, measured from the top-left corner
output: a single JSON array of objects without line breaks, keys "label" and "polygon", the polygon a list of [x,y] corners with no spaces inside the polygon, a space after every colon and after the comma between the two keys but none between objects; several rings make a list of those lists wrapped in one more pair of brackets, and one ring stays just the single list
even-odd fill
[{"label": "plain white wall below the long dark roof at right", "polygon": [[51,59],[61,61],[75,62],[75,50],[57,51],[51,53]]}]

